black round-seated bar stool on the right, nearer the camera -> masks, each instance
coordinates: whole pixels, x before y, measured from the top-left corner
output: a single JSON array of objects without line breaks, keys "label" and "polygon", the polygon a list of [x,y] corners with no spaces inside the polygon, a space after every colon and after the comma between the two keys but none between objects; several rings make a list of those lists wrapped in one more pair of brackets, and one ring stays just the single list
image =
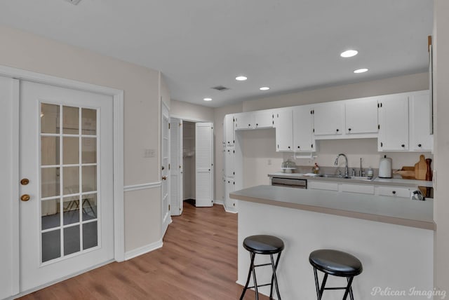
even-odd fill
[{"label": "black round-seated bar stool on the right, nearer the camera", "polygon": [[[351,297],[351,300],[354,300],[351,285],[354,276],[362,273],[363,271],[361,261],[346,252],[329,249],[321,249],[311,252],[311,254],[309,255],[309,261],[310,264],[314,266],[316,296],[318,296],[318,300],[321,300],[321,296],[323,296],[323,292],[325,289],[344,289],[345,291],[343,300],[347,299],[348,294]],[[318,282],[318,274],[316,270],[324,273],[321,287]],[[325,287],[326,280],[328,280],[328,275],[346,277],[348,282],[347,286]]]}]

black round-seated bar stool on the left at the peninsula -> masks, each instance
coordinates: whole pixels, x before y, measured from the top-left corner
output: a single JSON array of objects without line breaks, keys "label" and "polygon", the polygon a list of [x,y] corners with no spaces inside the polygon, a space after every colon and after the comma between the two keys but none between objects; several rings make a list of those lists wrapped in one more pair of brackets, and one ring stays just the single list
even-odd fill
[{"label": "black round-seated bar stool on the left at the peninsula", "polygon": [[[276,236],[248,236],[243,240],[243,247],[250,252],[250,271],[248,272],[248,279],[246,280],[246,285],[243,288],[243,292],[241,293],[240,300],[245,296],[246,289],[253,288],[255,289],[255,299],[259,299],[259,294],[257,292],[257,287],[264,287],[266,285],[270,285],[269,299],[273,299],[273,282],[276,287],[276,294],[278,295],[278,299],[281,300],[281,295],[279,294],[278,280],[276,278],[276,268],[279,264],[279,258],[281,257],[281,252],[283,250],[283,241],[280,238],[276,238]],[[276,258],[276,264],[274,263],[273,254],[278,254]],[[270,259],[272,260],[269,264],[254,264],[255,254],[269,254]],[[273,275],[272,282],[264,285],[257,285],[257,280],[255,278],[255,268],[258,266],[272,266]],[[248,287],[250,282],[251,273],[253,273],[254,285],[252,287]]]}]

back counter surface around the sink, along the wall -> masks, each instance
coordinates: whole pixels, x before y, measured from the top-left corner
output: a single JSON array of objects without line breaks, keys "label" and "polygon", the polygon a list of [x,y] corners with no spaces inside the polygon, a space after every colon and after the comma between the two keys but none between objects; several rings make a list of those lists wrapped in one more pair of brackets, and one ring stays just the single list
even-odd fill
[{"label": "back counter surface around the sink, along the wall", "polygon": [[358,183],[358,184],[373,184],[373,185],[390,185],[390,186],[426,186],[432,187],[432,182],[425,180],[415,180],[415,179],[399,179],[399,178],[380,178],[376,177],[373,180],[356,180],[356,179],[343,179],[343,178],[332,178],[332,177],[315,177],[309,176],[303,173],[284,173],[276,172],[268,175],[269,177],[283,177],[283,178],[297,178],[297,179],[308,179],[308,180],[323,180],[332,182],[344,182],[344,183]]}]

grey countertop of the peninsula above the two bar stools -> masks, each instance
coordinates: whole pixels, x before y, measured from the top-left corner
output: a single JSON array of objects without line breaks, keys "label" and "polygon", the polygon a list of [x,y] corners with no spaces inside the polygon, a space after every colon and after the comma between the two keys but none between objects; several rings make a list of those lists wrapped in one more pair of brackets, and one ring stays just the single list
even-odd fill
[{"label": "grey countertop of the peninsula above the two bar stools", "polygon": [[422,229],[435,229],[433,200],[420,201],[389,196],[266,185],[234,191],[229,196],[237,200],[298,210],[337,214]]}]

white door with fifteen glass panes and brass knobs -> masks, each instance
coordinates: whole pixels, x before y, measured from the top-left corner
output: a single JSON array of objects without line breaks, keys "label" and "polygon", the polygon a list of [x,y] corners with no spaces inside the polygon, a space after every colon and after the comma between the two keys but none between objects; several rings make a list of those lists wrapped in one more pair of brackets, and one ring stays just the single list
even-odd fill
[{"label": "white door with fifteen glass panes and brass knobs", "polygon": [[21,291],[114,258],[112,120],[110,96],[20,83]]}]

